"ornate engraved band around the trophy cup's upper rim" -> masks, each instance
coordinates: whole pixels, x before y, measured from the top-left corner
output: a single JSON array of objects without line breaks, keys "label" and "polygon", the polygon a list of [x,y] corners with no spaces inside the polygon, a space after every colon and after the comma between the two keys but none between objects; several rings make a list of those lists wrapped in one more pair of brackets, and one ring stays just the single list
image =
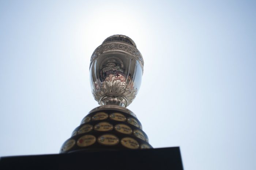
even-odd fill
[{"label": "ornate engraved band around the trophy cup's upper rim", "polygon": [[[102,45],[98,46],[97,49],[94,50],[93,55],[91,56],[91,63],[100,54],[105,53],[107,51],[114,51],[114,50],[121,50],[121,51],[130,53],[133,57],[135,57],[139,61],[143,70],[144,61],[143,61],[142,55],[140,54],[140,51],[136,47],[123,42],[109,42],[109,43],[103,43]],[[91,67],[91,63],[90,63],[90,67]]]}]

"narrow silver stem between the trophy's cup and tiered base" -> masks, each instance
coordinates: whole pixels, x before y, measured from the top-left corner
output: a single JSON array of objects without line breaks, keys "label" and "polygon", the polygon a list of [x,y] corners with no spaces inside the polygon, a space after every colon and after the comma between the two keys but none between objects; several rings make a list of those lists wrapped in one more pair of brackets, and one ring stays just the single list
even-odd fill
[{"label": "narrow silver stem between the trophy's cup and tiered base", "polygon": [[108,94],[106,96],[103,96],[101,100],[99,100],[99,104],[127,107],[127,100],[118,94]]}]

